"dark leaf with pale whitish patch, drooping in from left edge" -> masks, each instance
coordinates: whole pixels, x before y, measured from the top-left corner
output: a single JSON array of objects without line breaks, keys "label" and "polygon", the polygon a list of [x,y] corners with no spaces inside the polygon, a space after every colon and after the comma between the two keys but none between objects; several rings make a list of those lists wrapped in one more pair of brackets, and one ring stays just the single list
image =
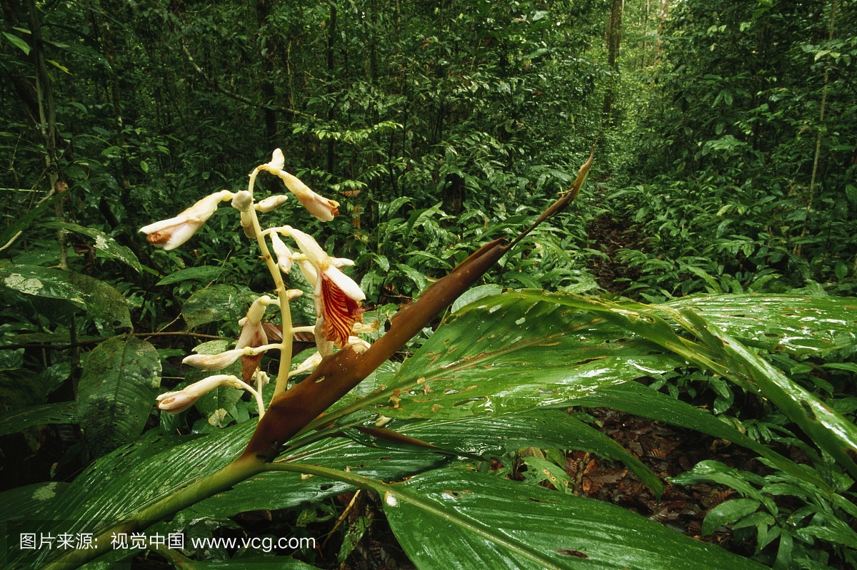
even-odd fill
[{"label": "dark leaf with pale whitish patch, drooping in from left edge", "polygon": [[115,288],[90,276],[39,265],[0,267],[0,282],[35,297],[67,300],[111,327],[130,327],[128,302]]}]

